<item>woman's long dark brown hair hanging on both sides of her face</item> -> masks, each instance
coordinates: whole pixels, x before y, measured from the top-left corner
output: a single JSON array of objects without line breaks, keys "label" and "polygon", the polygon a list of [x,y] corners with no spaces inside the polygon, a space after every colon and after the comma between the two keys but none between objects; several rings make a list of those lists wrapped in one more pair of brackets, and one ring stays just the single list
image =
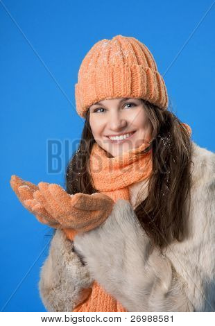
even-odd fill
[{"label": "woman's long dark brown hair hanging on both sides of her face", "polygon": [[[148,196],[135,208],[135,214],[152,244],[163,250],[172,241],[183,241],[186,236],[185,202],[187,196],[190,199],[191,139],[173,112],[141,101],[153,127],[150,146],[142,152],[153,148],[153,173],[148,180]],[[88,110],[78,151],[67,166],[68,194],[97,191],[87,169],[94,142]],[[138,197],[141,198],[141,192]]]}]

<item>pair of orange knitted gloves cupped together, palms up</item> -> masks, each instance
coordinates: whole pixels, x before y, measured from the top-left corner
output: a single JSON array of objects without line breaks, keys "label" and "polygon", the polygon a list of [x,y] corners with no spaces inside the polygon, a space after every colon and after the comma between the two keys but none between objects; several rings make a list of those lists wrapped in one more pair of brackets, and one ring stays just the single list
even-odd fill
[{"label": "pair of orange knitted gloves cupped together, palms up", "polygon": [[105,194],[69,195],[60,185],[40,182],[37,187],[16,175],[12,175],[10,185],[22,205],[38,221],[52,228],[64,229],[71,240],[78,232],[87,232],[101,225],[114,205]]}]

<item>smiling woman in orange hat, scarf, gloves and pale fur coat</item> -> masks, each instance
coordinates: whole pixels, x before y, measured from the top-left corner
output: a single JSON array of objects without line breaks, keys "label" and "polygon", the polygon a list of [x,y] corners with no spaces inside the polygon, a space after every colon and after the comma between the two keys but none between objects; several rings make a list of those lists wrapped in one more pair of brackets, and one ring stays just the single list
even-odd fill
[{"label": "smiling woman in orange hat, scarf, gloves and pale fur coat", "polygon": [[167,108],[148,48],[101,40],[78,72],[85,126],[67,191],[12,176],[23,205],[57,229],[40,273],[48,311],[215,310],[215,155]]}]

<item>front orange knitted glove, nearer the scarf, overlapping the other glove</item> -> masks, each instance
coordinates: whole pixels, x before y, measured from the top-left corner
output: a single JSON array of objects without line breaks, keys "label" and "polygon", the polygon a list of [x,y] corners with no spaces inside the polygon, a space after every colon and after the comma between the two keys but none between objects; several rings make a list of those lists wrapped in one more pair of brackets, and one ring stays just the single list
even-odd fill
[{"label": "front orange knitted glove, nearer the scarf, overlapping the other glove", "polygon": [[41,205],[62,228],[87,232],[101,225],[112,212],[114,201],[101,193],[69,195],[60,185],[40,182],[33,193]]}]

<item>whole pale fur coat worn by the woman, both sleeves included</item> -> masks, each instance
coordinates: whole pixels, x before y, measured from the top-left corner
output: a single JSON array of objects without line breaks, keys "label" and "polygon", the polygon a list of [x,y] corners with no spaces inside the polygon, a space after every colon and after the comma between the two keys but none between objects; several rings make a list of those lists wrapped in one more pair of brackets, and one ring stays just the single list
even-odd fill
[{"label": "whole pale fur coat worn by the woman, both sleeves included", "polygon": [[215,154],[192,141],[192,161],[187,239],[172,243],[164,256],[149,254],[134,212],[146,184],[132,185],[130,203],[117,200],[107,220],[74,243],[56,230],[39,282],[48,311],[72,311],[93,280],[128,311],[215,311]]}]

